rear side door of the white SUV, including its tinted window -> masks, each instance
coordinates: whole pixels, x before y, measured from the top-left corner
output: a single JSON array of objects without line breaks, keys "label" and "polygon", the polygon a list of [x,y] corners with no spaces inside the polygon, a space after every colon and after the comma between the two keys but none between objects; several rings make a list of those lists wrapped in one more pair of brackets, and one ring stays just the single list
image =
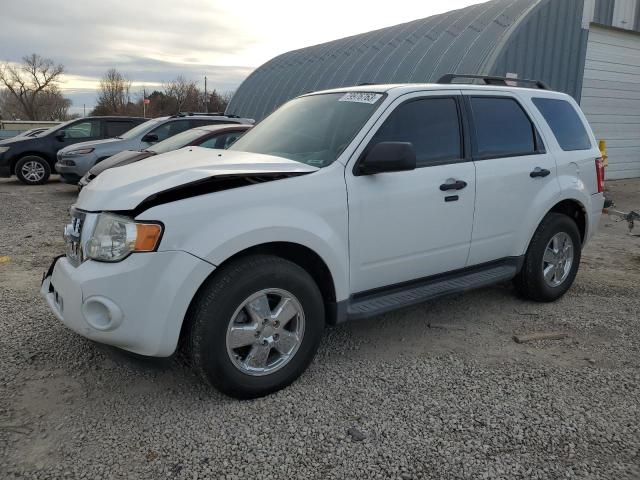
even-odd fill
[{"label": "rear side door of the white SUV, including its tinted window", "polygon": [[500,91],[463,93],[476,166],[472,266],[522,255],[523,232],[560,187],[555,158],[520,99]]}]

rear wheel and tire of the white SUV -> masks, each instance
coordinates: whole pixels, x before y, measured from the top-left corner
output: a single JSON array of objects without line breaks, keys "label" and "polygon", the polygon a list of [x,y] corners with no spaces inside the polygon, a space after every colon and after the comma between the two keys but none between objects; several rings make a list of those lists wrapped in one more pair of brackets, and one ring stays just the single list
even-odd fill
[{"label": "rear wheel and tire of the white SUV", "polygon": [[582,240],[576,223],[560,213],[549,213],[536,230],[522,270],[514,279],[518,292],[537,302],[562,297],[576,278]]}]

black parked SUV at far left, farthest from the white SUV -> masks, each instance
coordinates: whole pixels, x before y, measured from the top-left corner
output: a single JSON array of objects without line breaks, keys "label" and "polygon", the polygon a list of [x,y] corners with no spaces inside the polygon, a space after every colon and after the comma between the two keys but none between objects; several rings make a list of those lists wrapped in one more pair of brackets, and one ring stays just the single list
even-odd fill
[{"label": "black parked SUV at far left, farthest from the white SUV", "polygon": [[121,135],[144,121],[138,117],[83,117],[35,137],[18,136],[0,141],[0,177],[16,175],[27,185],[41,185],[55,171],[58,150],[87,140]]}]

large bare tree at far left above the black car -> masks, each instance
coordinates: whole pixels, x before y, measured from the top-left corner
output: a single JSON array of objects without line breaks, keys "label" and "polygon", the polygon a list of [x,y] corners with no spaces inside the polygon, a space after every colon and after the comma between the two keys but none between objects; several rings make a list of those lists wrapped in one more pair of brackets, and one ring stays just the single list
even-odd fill
[{"label": "large bare tree at far left above the black car", "polygon": [[[44,96],[56,91],[61,97],[57,84],[64,73],[64,67],[53,60],[32,53],[23,57],[19,65],[0,65],[0,84],[3,85],[27,120],[40,120]],[[67,107],[68,108],[68,107]]]}]

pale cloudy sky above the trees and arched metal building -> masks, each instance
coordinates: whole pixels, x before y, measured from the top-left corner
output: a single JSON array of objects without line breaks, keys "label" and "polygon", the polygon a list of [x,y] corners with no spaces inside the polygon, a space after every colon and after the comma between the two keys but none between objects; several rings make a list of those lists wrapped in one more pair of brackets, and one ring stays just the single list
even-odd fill
[{"label": "pale cloudy sky above the trees and arched metal building", "polygon": [[30,53],[62,63],[60,87],[83,114],[112,67],[134,94],[177,75],[233,91],[281,53],[481,1],[2,0],[0,63]]}]

